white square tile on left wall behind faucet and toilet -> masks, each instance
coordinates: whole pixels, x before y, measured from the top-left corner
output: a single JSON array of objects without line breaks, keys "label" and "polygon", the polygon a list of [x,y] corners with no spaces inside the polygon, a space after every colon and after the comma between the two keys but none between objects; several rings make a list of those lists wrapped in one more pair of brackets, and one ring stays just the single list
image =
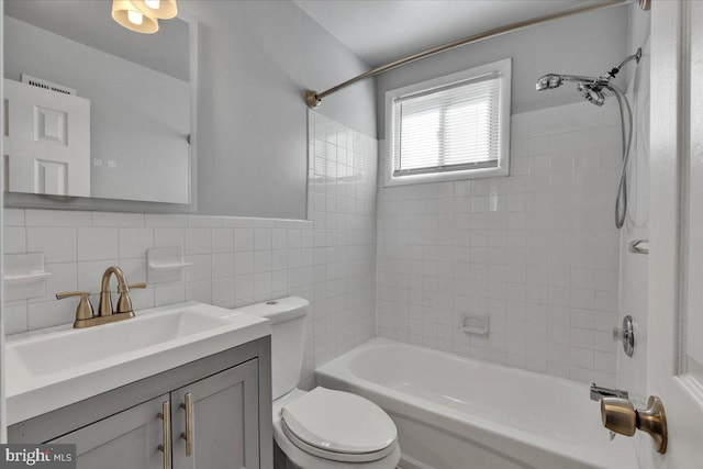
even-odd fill
[{"label": "white square tile on left wall behind faucet and toilet", "polygon": [[[375,335],[377,141],[310,114],[310,221],[54,210],[4,211],[5,253],[41,252],[42,298],[5,304],[8,334],[74,321],[108,266],[146,281],[146,249],[182,246],[183,281],[130,294],[140,310],[182,301],[234,308],[289,294],[309,299],[303,386],[312,370]],[[98,297],[91,295],[97,306]]]}]

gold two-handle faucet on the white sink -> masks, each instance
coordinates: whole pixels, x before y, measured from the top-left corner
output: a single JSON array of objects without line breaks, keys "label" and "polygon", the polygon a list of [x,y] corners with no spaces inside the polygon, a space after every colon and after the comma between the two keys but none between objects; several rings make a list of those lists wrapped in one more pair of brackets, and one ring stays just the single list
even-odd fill
[{"label": "gold two-handle faucet on the white sink", "polygon": [[[120,299],[118,300],[118,308],[112,310],[112,292],[110,291],[110,279],[112,275],[118,278],[118,293]],[[110,266],[102,273],[102,281],[100,284],[100,305],[98,306],[98,315],[93,314],[92,305],[88,295],[90,293],[86,291],[65,291],[56,293],[56,299],[63,300],[68,297],[80,297],[80,303],[76,310],[76,321],[74,321],[74,327],[91,327],[100,324],[113,323],[116,321],[129,320],[134,317],[134,310],[132,309],[132,300],[130,299],[130,289],[133,288],[146,288],[146,283],[132,283],[127,284],[124,272],[121,268]]]}]

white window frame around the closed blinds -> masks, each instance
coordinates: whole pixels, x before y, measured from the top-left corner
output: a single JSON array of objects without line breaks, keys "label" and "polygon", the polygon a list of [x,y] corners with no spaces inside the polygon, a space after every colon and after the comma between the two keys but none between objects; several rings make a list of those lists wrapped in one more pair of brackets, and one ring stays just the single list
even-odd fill
[{"label": "white window frame around the closed blinds", "polygon": [[[470,81],[481,77],[499,76],[499,124],[498,124],[498,166],[491,168],[471,168],[442,170],[415,175],[393,176],[395,145],[394,101],[411,94],[442,89],[461,81]],[[386,153],[384,186],[403,186],[414,183],[445,182],[462,179],[490,178],[507,176],[510,168],[510,121],[511,121],[511,82],[512,58],[504,58],[490,64],[472,67],[455,74],[433,78],[419,83],[409,85],[386,92]]]}]

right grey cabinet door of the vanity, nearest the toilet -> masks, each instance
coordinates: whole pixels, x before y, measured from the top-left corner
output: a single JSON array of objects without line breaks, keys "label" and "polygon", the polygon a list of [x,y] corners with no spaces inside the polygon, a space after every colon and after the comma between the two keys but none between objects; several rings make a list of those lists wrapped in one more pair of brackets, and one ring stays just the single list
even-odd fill
[{"label": "right grey cabinet door of the vanity, nearest the toilet", "polygon": [[171,392],[174,469],[258,468],[258,359]]}]

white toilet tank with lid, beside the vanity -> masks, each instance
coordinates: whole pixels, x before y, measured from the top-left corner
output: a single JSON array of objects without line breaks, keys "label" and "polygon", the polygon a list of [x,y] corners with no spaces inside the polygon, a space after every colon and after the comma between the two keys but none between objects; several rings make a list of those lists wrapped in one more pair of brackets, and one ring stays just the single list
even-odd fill
[{"label": "white toilet tank with lid, beside the vanity", "polygon": [[298,297],[287,297],[237,308],[236,311],[266,317],[271,322],[274,400],[295,389],[303,366],[303,333],[310,302]]}]

